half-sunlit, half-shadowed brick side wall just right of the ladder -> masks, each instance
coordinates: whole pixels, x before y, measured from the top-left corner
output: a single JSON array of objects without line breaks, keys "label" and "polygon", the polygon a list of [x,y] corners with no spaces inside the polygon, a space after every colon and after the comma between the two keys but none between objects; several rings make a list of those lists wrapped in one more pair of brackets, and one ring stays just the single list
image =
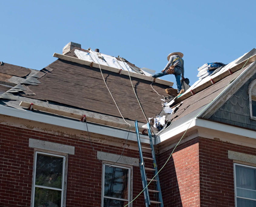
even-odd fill
[{"label": "half-sunlit, half-shadowed brick side wall just right of the ladder", "polygon": [[[160,169],[173,149],[158,156]],[[198,139],[181,144],[159,173],[165,206],[200,206]]]}]

